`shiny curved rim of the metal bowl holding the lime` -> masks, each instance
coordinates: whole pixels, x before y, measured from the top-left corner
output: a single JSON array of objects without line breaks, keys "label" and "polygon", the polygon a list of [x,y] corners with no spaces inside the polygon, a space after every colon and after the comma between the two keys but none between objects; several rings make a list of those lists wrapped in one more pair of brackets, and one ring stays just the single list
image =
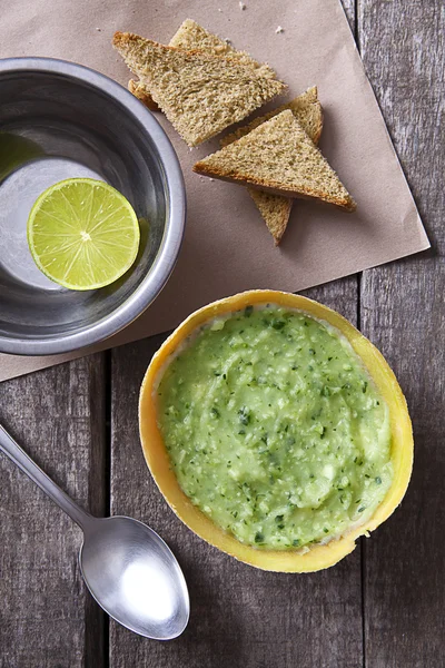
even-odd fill
[{"label": "shiny curved rim of the metal bowl holding the lime", "polygon": [[167,134],[154,115],[117,81],[89,67],[56,58],[0,59],[0,75],[42,72],[87,84],[120,104],[144,127],[159,155],[167,184],[168,224],[149,274],[115,311],[80,332],[48,338],[22,338],[0,334],[0,352],[14,355],[53,355],[98,344],[135,321],[154,302],[175,267],[186,223],[186,188],[179,159]]}]

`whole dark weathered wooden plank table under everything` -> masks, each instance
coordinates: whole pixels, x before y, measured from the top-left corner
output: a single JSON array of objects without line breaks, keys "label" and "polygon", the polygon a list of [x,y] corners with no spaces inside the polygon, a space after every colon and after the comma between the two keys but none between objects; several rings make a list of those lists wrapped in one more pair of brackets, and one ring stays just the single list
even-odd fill
[{"label": "whole dark weathered wooden plank table under everything", "polygon": [[137,399],[161,336],[3,383],[0,419],[63,489],[167,540],[191,619],[168,644],[110,621],[82,584],[79,530],[1,456],[1,668],[445,666],[444,6],[345,7],[433,249],[307,294],[357,324],[406,393],[416,454],[402,507],[330,570],[257,571],[186,529],[147,473]]}]

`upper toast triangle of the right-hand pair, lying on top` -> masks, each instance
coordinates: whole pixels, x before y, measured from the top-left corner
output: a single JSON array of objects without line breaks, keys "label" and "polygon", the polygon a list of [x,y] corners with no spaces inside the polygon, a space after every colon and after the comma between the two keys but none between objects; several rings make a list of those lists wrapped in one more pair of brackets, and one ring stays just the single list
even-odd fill
[{"label": "upper toast triangle of the right-hand pair, lying on top", "polygon": [[194,166],[194,171],[240,185],[319,199],[348,212],[354,199],[287,109]]}]

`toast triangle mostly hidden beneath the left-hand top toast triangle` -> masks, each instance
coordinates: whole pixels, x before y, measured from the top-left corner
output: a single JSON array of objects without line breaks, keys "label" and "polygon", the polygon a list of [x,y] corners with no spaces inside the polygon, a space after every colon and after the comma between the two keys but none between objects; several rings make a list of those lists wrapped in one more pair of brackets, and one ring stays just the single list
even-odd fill
[{"label": "toast triangle mostly hidden beneath the left-hand top toast triangle", "polygon": [[[276,78],[276,73],[267,63],[260,63],[254,60],[246,51],[235,50],[227,41],[219,39],[216,35],[208,32],[202,26],[199,26],[191,19],[186,19],[178,28],[174,37],[169,41],[169,47],[184,49],[185,51],[200,50],[211,56],[233,56],[239,62],[251,66],[257,69],[258,73]],[[152,100],[148,87],[141,81],[128,82],[130,92],[136,95],[149,109],[158,110],[158,105]]]}]

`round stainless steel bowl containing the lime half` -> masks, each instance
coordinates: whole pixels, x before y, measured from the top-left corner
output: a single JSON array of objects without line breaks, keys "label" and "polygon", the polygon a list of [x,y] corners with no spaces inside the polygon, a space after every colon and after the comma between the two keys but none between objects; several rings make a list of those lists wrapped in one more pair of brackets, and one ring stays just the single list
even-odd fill
[{"label": "round stainless steel bowl containing the lime half", "polygon": [[[75,292],[52,283],[28,248],[33,202],[50,185],[71,177],[115,186],[140,220],[136,263],[118,282],[97,291]],[[128,325],[174,268],[185,210],[175,150],[154,116],[125,88],[71,62],[0,60],[1,352],[73,351]]]}]

